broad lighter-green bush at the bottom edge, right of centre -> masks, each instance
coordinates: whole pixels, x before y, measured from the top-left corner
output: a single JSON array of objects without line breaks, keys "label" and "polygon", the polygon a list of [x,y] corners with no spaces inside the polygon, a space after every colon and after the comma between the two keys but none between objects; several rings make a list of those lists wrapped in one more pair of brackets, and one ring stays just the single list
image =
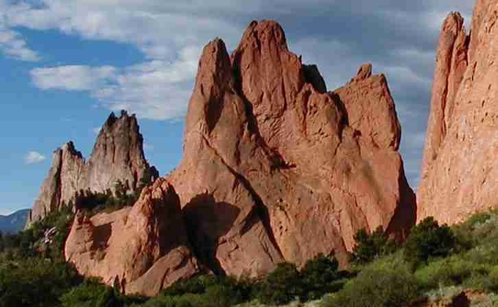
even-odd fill
[{"label": "broad lighter-green bush at the bottom edge, right of centre", "polygon": [[420,285],[407,269],[368,267],[342,291],[324,299],[324,307],[407,306],[420,296]]}]

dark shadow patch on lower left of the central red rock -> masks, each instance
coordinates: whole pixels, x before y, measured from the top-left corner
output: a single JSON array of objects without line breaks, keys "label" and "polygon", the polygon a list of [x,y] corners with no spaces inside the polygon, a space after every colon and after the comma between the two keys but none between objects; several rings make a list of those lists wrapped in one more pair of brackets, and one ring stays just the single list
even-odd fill
[{"label": "dark shadow patch on lower left of the central red rock", "polygon": [[217,245],[233,227],[240,209],[204,193],[193,197],[182,211],[195,256],[214,273],[224,274],[216,258]]}]

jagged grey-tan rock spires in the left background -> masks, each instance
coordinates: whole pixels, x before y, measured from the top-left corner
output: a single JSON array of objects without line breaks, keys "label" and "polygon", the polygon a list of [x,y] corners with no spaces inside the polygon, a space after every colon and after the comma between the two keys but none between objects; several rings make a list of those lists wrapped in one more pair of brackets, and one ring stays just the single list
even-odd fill
[{"label": "jagged grey-tan rock spires in the left background", "polygon": [[137,119],[122,112],[110,114],[99,133],[91,158],[85,162],[72,142],[56,149],[49,174],[33,205],[28,223],[69,204],[75,193],[90,189],[103,192],[114,188],[118,180],[128,182],[130,191],[144,176],[158,177],[143,154],[143,138]]}]

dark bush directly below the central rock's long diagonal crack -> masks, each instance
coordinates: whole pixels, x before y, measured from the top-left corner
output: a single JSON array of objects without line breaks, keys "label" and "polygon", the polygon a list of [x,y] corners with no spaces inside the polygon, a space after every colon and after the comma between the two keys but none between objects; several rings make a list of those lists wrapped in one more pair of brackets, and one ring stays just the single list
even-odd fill
[{"label": "dark bush directly below the central rock's long diagonal crack", "polygon": [[284,305],[303,295],[303,282],[296,265],[283,262],[263,280],[258,296],[263,304]]}]

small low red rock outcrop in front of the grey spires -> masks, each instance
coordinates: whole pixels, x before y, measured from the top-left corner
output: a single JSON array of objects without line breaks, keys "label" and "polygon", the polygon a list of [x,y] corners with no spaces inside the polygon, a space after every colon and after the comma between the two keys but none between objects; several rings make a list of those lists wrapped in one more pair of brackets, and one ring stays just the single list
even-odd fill
[{"label": "small low red rock outcrop in front of the grey spires", "polygon": [[163,179],[143,189],[132,208],[76,214],[64,254],[85,276],[98,276],[121,291],[156,295],[200,271],[191,253],[174,188]]}]

